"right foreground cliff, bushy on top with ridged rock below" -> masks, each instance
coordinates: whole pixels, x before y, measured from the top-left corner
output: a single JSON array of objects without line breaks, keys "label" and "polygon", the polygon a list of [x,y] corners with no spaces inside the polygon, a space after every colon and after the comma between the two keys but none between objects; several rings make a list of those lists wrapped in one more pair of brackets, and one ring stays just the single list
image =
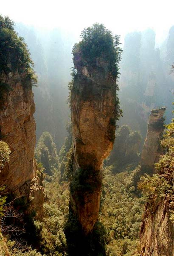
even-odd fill
[{"label": "right foreground cliff, bushy on top with ridged rock below", "polygon": [[146,198],[141,256],[174,255],[174,121],[167,127],[162,146],[166,154],[156,165],[158,174],[141,181]]}]

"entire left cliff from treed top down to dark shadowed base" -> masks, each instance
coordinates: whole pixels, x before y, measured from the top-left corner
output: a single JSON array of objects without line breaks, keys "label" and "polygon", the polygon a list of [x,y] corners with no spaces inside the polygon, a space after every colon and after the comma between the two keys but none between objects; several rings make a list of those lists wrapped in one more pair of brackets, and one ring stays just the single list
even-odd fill
[{"label": "entire left cliff from treed top down to dark shadowed base", "polygon": [[[32,244],[34,220],[42,221],[44,202],[42,180],[36,174],[34,159],[36,127],[32,86],[37,79],[27,45],[14,31],[14,23],[1,15],[0,37],[0,141],[4,145],[0,155],[3,159],[6,148],[8,154],[11,152],[9,159],[6,157],[0,165],[0,196],[6,195],[6,202],[1,201],[0,228],[12,240],[15,236],[20,238],[25,231],[31,232],[33,236],[25,238]],[[36,246],[37,242],[34,241]]]}]

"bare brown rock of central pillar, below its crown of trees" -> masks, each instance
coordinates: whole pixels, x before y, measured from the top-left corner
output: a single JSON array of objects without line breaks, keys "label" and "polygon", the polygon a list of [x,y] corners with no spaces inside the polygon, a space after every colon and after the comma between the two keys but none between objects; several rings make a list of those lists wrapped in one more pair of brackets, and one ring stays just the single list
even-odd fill
[{"label": "bare brown rock of central pillar, below its crown of trees", "polygon": [[101,166],[115,139],[116,78],[109,72],[109,61],[97,58],[93,67],[81,62],[74,52],[77,70],[71,90],[73,134],[73,174],[70,208],[77,215],[84,233],[98,220],[101,198]]}]

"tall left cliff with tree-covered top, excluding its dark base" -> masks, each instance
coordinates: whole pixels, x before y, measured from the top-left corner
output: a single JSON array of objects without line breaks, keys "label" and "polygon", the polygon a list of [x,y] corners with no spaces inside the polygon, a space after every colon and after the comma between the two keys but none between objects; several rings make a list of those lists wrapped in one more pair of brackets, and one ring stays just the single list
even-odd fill
[{"label": "tall left cliff with tree-covered top, excluding its dark base", "polygon": [[[26,44],[14,23],[0,16],[0,140],[10,148],[10,160],[0,169],[0,186],[14,198],[33,198],[27,212],[43,217],[43,188],[36,176],[34,96],[36,77]],[[37,201],[37,203],[36,203]],[[35,203],[34,203],[35,202]]]}]

